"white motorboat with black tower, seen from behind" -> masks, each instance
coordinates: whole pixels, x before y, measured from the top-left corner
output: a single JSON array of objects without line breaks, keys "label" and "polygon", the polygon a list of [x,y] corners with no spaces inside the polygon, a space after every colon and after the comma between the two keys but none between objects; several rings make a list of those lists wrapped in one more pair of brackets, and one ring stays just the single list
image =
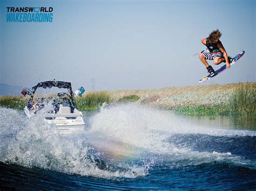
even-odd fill
[{"label": "white motorboat with black tower, seen from behind", "polygon": [[[68,92],[57,93],[57,95],[54,96],[49,94],[35,94],[38,88],[46,89],[52,87],[65,89],[68,90]],[[28,118],[35,116],[39,110],[46,108],[47,110],[44,114],[44,120],[49,125],[56,125],[60,134],[70,135],[73,133],[84,132],[85,122],[83,114],[77,109],[70,82],[40,82],[32,87],[32,91],[28,88],[24,88],[22,94],[24,96],[30,95],[30,99],[24,108],[25,115]]]}]

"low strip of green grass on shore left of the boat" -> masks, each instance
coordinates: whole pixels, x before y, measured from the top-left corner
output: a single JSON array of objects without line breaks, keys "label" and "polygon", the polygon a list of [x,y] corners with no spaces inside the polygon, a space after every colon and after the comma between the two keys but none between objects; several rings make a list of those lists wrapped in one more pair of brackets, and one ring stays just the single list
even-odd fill
[{"label": "low strip of green grass on shore left of the boat", "polygon": [[23,96],[1,96],[0,107],[22,110],[28,99]]}]

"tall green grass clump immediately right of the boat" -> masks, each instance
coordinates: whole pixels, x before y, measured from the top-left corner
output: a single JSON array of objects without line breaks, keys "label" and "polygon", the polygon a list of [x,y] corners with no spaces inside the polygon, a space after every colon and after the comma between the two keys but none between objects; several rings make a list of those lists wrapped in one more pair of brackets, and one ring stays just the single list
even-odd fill
[{"label": "tall green grass clump immediately right of the boat", "polygon": [[100,107],[103,103],[111,103],[112,98],[104,91],[90,92],[85,96],[76,97],[77,108],[80,111],[92,111]]}]

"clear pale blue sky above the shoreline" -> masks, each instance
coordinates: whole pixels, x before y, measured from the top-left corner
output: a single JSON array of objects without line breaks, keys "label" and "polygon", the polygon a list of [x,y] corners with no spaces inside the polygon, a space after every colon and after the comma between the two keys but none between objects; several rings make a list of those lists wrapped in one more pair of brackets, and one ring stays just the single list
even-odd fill
[{"label": "clear pale blue sky above the shoreline", "polygon": [[[87,90],[92,79],[96,90],[199,85],[207,71],[192,55],[215,29],[228,55],[246,53],[204,85],[255,81],[255,1],[2,0],[0,6],[0,83],[32,87],[56,79]],[[7,23],[7,6],[51,6],[53,22]]]}]

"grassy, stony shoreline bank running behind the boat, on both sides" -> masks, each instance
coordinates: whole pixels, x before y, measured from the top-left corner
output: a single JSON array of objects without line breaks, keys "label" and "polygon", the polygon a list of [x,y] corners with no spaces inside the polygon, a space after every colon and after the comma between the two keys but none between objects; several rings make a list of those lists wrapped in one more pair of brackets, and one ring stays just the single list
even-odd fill
[{"label": "grassy, stony shoreline bank running behind the boat, on both sides", "polygon": [[[187,116],[256,117],[256,83],[210,84],[148,90],[93,91],[75,97],[81,111],[93,111],[104,103],[136,102]],[[27,97],[0,96],[0,106],[22,110]]]}]

